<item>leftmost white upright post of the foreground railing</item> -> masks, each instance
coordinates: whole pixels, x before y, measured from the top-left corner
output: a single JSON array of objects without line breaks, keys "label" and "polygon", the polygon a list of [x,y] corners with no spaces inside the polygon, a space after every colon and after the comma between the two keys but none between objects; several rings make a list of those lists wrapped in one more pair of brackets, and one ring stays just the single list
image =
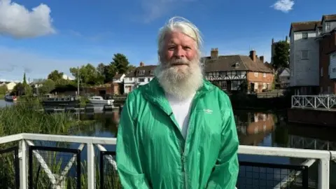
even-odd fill
[{"label": "leftmost white upright post of the foreground railing", "polygon": [[27,144],[24,139],[20,141],[20,189],[27,189]]}]

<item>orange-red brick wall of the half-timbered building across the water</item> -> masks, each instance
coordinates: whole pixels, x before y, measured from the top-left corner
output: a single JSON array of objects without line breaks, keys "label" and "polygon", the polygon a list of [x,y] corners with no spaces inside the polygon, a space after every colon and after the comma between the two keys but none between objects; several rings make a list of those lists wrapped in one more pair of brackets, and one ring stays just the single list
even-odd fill
[{"label": "orange-red brick wall of the half-timbered building across the water", "polygon": [[254,73],[254,71],[248,71],[247,73],[248,91],[251,89],[251,83],[258,83],[257,92],[262,92],[263,83],[269,84],[267,90],[272,90],[272,83],[274,80],[273,73],[266,73],[266,77],[264,77],[262,72],[257,72],[258,76],[255,76]]}]

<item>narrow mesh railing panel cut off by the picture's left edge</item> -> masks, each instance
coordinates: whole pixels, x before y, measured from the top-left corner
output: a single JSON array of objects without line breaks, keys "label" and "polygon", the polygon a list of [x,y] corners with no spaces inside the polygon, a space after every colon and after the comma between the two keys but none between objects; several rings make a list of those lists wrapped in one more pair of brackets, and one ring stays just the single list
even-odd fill
[{"label": "narrow mesh railing panel cut off by the picture's left edge", "polygon": [[20,188],[18,146],[0,151],[0,188]]}]

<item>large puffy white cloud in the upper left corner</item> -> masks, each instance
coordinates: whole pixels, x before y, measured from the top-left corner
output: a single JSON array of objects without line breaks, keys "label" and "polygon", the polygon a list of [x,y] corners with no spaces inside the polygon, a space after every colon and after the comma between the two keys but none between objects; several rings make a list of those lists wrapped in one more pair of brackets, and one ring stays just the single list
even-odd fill
[{"label": "large puffy white cloud in the upper left corner", "polygon": [[47,5],[41,3],[29,11],[11,0],[0,0],[0,34],[30,38],[55,33]]}]

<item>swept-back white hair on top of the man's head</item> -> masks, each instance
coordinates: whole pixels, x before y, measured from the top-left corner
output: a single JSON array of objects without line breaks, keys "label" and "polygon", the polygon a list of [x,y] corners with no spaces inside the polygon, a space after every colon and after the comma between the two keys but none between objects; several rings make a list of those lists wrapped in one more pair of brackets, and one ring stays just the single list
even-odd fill
[{"label": "swept-back white hair on top of the man's head", "polygon": [[196,48],[199,56],[201,55],[201,48],[202,48],[202,36],[200,30],[189,20],[186,18],[182,18],[179,16],[173,17],[168,20],[166,25],[164,25],[159,32],[158,37],[158,53],[161,56],[162,48],[165,46],[165,38],[167,34],[171,33],[172,31],[180,31],[181,33],[193,38],[196,41]]}]

